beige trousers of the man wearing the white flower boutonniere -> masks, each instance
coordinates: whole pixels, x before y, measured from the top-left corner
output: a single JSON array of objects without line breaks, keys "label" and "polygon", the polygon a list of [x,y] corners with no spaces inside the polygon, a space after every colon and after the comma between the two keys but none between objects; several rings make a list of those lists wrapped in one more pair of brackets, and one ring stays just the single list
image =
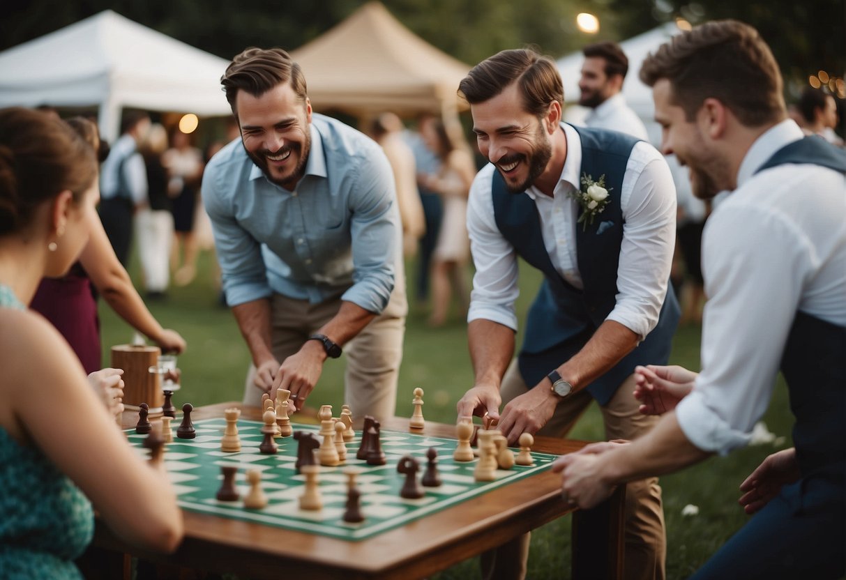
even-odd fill
[{"label": "beige trousers of the man wearing the white flower boutonniere", "polygon": [[[516,359],[503,377],[501,394],[503,406],[524,394],[528,387],[519,374]],[[601,406],[608,440],[633,440],[643,435],[657,423],[656,416],[638,411],[640,403],[634,398],[634,375],[619,386],[611,401]],[[585,412],[593,397],[579,391],[558,403],[552,419],[537,435],[563,438]],[[664,532],[664,512],[661,506],[661,487],[657,478],[641,479],[628,484],[625,505],[625,559],[626,580],[647,580],[665,577],[664,561],[667,556],[667,538]],[[529,534],[508,544],[486,552],[481,557],[482,576],[487,579],[523,578],[529,556]]]}]

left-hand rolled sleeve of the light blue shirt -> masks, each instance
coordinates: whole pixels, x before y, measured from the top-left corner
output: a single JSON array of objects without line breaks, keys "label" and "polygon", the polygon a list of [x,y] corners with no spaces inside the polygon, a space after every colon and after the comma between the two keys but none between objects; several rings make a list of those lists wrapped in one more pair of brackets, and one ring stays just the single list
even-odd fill
[{"label": "left-hand rolled sleeve of the light blue shirt", "polygon": [[223,292],[231,307],[268,298],[272,290],[267,283],[261,245],[235,218],[233,193],[225,191],[222,183],[225,173],[225,166],[210,164],[206,167],[202,199],[214,233]]}]

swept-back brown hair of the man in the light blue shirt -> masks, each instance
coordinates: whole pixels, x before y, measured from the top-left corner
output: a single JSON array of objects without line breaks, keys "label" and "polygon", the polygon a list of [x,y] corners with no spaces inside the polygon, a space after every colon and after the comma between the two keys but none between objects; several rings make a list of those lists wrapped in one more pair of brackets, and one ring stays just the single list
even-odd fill
[{"label": "swept-back brown hair of the man in the light blue shirt", "polygon": [[226,72],[220,78],[229,107],[235,112],[235,97],[239,90],[252,96],[261,96],[276,85],[288,83],[301,101],[308,96],[305,90],[305,76],[299,64],[291,60],[288,52],[281,48],[244,49],[232,59]]}]

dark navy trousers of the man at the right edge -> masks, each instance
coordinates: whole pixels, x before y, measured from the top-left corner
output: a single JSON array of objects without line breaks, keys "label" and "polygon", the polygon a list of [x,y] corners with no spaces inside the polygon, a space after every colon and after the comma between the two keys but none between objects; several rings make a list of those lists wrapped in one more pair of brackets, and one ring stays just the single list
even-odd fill
[{"label": "dark navy trousers of the man at the right edge", "polygon": [[843,478],[784,486],[691,580],[835,580],[844,570]]}]

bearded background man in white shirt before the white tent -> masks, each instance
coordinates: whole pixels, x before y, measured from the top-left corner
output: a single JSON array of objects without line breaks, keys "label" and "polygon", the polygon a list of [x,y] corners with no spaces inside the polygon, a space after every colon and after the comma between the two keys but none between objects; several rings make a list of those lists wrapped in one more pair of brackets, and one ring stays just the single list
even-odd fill
[{"label": "bearded background man in white shirt before the white tent", "polygon": [[582,49],[579,104],[590,107],[585,125],[611,129],[649,141],[643,121],[626,104],[623,82],[629,72],[629,58],[615,42],[597,42]]}]

